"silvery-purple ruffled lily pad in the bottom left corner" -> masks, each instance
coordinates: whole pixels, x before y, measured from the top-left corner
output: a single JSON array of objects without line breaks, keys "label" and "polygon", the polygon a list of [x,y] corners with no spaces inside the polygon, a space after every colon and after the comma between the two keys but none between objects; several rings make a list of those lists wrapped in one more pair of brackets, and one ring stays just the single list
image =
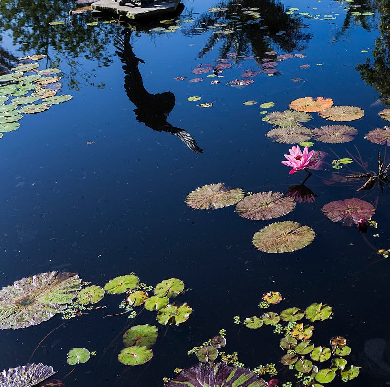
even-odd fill
[{"label": "silvery-purple ruffled lily pad in the bottom left corner", "polygon": [[44,381],[56,372],[53,367],[42,363],[28,363],[25,366],[9,368],[0,373],[1,387],[31,387]]}]

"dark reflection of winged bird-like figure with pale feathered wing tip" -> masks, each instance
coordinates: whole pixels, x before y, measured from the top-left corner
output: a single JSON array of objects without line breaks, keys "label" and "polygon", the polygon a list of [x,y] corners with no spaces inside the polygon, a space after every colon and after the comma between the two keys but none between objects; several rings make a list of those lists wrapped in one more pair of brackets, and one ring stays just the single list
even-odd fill
[{"label": "dark reflection of winged bird-like figure with pale feathered wing tip", "polygon": [[167,122],[169,113],[176,103],[175,95],[170,91],[151,94],[145,89],[142,75],[138,69],[139,62],[145,62],[137,58],[133,52],[130,44],[131,33],[130,29],[125,28],[123,31],[124,38],[121,36],[116,37],[116,47],[118,49],[117,54],[124,63],[124,87],[127,97],[137,107],[134,109],[137,120],[158,132],[169,132],[176,135],[192,151],[202,153],[203,150],[198,147],[196,141],[188,132]]}]

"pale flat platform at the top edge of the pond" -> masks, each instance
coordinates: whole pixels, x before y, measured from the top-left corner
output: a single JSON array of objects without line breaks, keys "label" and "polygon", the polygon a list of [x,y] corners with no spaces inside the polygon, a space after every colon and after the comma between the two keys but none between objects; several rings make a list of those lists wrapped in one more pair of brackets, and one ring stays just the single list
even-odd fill
[{"label": "pale flat platform at the top edge of the pond", "polygon": [[128,19],[156,19],[166,13],[176,11],[181,0],[153,0],[147,7],[135,7],[132,4],[119,5],[119,0],[100,0],[92,4],[92,9],[115,13]]}]

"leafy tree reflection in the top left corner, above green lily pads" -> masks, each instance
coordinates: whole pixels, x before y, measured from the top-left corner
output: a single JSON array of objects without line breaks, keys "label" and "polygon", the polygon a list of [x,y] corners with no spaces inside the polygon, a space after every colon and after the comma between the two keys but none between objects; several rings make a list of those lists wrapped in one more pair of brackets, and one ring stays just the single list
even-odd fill
[{"label": "leafy tree reflection in the top left corner, above green lily pads", "polygon": [[[72,7],[68,0],[1,0],[0,31],[8,30],[13,44],[20,45],[23,53],[45,54],[53,66],[65,61],[70,70],[64,78],[77,90],[80,83],[93,85],[94,72],[86,71],[78,58],[93,59],[98,67],[107,67],[112,61],[108,50],[111,36],[102,28],[87,26],[85,14],[68,19]],[[49,25],[57,20],[66,23]]]}]

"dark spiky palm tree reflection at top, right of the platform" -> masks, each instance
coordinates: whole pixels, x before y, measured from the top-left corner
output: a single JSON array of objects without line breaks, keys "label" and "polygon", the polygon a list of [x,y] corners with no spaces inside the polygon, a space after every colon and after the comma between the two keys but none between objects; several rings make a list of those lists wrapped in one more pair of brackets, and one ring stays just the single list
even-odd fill
[{"label": "dark spiky palm tree reflection at top, right of the platform", "polygon": [[[248,54],[251,49],[254,55],[263,56],[266,51],[271,50],[273,42],[282,51],[303,51],[306,46],[302,42],[312,38],[312,34],[302,32],[302,29],[308,26],[301,23],[299,19],[292,19],[287,15],[280,1],[243,0],[240,4],[236,1],[226,1],[219,3],[217,7],[228,10],[201,15],[196,20],[195,27],[184,33],[198,34],[200,28],[214,29],[215,24],[226,25],[223,29],[234,30],[234,33],[228,35],[213,33],[199,53],[199,58],[202,58],[220,40],[222,40],[220,56],[223,58],[230,51],[236,52],[239,56]],[[260,18],[253,18],[243,13],[245,9],[250,8],[257,8],[255,12],[260,14]]]}]

